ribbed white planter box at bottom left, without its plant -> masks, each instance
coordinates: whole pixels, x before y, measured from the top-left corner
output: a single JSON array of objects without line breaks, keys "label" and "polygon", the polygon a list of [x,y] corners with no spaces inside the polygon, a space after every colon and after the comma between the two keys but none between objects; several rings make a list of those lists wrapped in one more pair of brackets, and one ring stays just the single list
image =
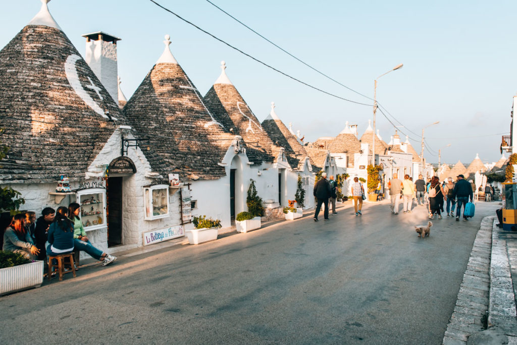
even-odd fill
[{"label": "ribbed white planter box at bottom left, without its plant", "polygon": [[43,261],[0,269],[0,295],[38,288],[43,283]]}]

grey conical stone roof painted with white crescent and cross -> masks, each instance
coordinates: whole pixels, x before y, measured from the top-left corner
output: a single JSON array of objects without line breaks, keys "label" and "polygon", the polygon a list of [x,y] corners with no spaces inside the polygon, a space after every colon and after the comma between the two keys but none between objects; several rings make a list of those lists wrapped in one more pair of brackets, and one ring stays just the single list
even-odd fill
[{"label": "grey conical stone roof painted with white crescent and cross", "polygon": [[10,148],[0,164],[0,182],[54,182],[63,174],[84,180],[114,130],[127,124],[44,10],[46,2],[34,25],[0,51],[1,140]]}]

